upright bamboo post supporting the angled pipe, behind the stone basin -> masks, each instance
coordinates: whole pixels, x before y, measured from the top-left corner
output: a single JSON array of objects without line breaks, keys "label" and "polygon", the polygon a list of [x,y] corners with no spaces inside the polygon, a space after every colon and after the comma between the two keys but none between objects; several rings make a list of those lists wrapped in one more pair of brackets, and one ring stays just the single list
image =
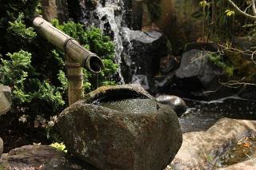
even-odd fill
[{"label": "upright bamboo post supporting the angled pipe, behind the stone basin", "polygon": [[69,56],[67,56],[66,73],[68,77],[69,105],[72,105],[84,97],[84,89],[82,67]]}]

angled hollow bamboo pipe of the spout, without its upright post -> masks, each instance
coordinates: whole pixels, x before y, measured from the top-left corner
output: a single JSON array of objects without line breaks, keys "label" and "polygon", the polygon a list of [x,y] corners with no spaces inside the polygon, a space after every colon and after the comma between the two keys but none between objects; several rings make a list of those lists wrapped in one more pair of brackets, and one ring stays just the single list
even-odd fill
[{"label": "angled hollow bamboo pipe of the spout, without its upright post", "polygon": [[74,38],[58,30],[42,17],[36,17],[33,25],[46,40],[65,52],[74,62],[94,73],[99,73],[104,68],[102,59],[79,44]]}]

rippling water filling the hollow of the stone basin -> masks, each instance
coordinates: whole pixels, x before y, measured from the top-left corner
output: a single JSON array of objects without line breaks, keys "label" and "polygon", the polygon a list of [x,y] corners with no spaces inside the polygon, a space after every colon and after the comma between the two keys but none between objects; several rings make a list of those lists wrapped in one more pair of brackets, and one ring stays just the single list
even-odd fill
[{"label": "rippling water filling the hollow of the stone basin", "polygon": [[98,105],[131,114],[156,113],[159,108],[158,103],[149,98],[129,98],[117,101],[98,102]]}]

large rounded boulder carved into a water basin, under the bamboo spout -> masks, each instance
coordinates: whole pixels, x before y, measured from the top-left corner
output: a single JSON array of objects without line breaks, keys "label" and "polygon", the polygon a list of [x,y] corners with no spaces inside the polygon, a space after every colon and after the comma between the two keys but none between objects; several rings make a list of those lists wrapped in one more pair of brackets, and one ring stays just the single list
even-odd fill
[{"label": "large rounded boulder carved into a water basin, under the bamboo spout", "polygon": [[163,169],[182,144],[173,110],[139,85],[96,89],[65,109],[58,127],[68,151],[99,169]]}]

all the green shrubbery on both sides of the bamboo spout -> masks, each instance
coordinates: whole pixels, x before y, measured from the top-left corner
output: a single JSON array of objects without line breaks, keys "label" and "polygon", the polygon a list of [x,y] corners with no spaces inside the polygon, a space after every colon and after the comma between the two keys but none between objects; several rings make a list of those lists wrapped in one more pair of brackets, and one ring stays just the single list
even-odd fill
[{"label": "all the green shrubbery on both sides of the bamboo spout", "polygon": [[[34,127],[38,116],[50,121],[67,106],[65,56],[31,26],[30,19],[39,11],[38,1],[0,2],[0,83],[12,89],[12,119],[26,114],[23,122]],[[86,30],[75,22],[59,24],[54,19],[52,23],[102,57],[105,69],[98,76],[83,71],[86,93],[99,85],[115,85],[113,76],[118,65],[114,64],[114,43],[109,37],[97,28]],[[42,124],[48,127],[49,136],[52,129],[46,122]]]}]

